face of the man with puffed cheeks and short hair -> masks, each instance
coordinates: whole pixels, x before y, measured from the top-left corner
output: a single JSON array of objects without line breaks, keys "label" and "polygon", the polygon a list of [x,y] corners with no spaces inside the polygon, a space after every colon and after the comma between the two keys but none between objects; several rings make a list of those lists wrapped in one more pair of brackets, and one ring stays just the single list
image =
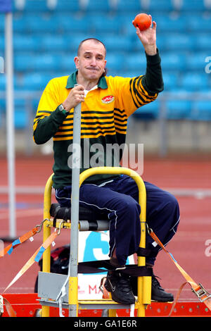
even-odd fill
[{"label": "face of the man with puffed cheeks and short hair", "polygon": [[98,80],[106,67],[106,50],[101,42],[87,40],[74,61],[78,72],[85,80]]}]

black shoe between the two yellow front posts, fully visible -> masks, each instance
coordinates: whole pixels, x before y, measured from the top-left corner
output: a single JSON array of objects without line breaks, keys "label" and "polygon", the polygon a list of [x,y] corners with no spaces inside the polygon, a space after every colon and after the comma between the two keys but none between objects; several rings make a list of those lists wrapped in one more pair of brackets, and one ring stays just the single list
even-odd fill
[{"label": "black shoe between the two yellow front posts, fully visible", "polygon": [[135,297],[129,282],[129,277],[121,275],[117,271],[108,273],[104,285],[111,297],[118,304],[134,304]]}]

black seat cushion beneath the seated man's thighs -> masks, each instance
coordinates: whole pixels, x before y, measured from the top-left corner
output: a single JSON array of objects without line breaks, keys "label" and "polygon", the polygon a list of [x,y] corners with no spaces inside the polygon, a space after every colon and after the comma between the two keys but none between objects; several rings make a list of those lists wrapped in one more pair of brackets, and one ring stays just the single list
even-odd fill
[{"label": "black seat cushion beneath the seated man's thighs", "polygon": [[[51,204],[50,215],[56,219],[70,220],[71,208],[61,207],[60,204]],[[79,206],[79,220],[108,220],[108,214],[96,213],[89,208]]]}]

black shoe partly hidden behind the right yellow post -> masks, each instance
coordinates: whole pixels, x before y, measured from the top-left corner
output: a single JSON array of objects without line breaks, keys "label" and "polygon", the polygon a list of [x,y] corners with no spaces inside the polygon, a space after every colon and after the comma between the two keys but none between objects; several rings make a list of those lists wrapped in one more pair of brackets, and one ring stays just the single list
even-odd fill
[{"label": "black shoe partly hidden behind the right yellow post", "polygon": [[[137,277],[134,276],[130,277],[130,282],[132,286],[132,291],[134,292],[134,295],[137,296],[138,295]],[[151,300],[159,301],[159,302],[174,301],[173,294],[165,292],[165,289],[163,289],[160,286],[160,282],[158,282],[155,275],[152,275]]]}]

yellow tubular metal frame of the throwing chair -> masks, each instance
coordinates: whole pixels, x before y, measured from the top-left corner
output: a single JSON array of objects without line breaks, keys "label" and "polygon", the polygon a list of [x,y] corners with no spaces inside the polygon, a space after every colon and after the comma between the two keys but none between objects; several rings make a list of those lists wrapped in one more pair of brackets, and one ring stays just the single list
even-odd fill
[{"label": "yellow tubular metal frame of the throwing chair", "polygon": [[[84,180],[92,175],[97,174],[112,174],[112,175],[128,175],[132,177],[136,182],[136,185],[139,189],[139,204],[141,206],[140,222],[141,222],[141,240],[139,246],[141,248],[146,248],[146,188],[142,178],[134,170],[123,167],[98,167],[90,168],[85,170],[79,176],[79,187],[82,185]],[[51,226],[50,221],[50,208],[51,208],[51,189],[53,185],[52,180],[53,174],[49,177],[49,180],[46,182],[46,187],[44,191],[44,219],[49,221],[44,222],[44,233],[43,239],[46,240],[49,235],[51,235]],[[68,226],[66,226],[68,227]],[[70,226],[69,226],[70,227]],[[51,248],[49,247],[44,251],[43,255],[43,271],[45,273],[50,273],[50,263],[51,263]],[[144,256],[138,256],[138,266],[145,266],[146,258]],[[96,303],[96,301],[94,301]],[[77,277],[69,277],[69,302],[68,304],[77,304],[78,301],[78,292],[77,292]],[[151,304],[151,276],[138,277],[138,301],[135,304],[137,308],[137,316],[145,316],[146,306]],[[49,306],[42,306],[42,317],[49,317]],[[115,316],[115,309],[109,310],[109,316]]]}]

